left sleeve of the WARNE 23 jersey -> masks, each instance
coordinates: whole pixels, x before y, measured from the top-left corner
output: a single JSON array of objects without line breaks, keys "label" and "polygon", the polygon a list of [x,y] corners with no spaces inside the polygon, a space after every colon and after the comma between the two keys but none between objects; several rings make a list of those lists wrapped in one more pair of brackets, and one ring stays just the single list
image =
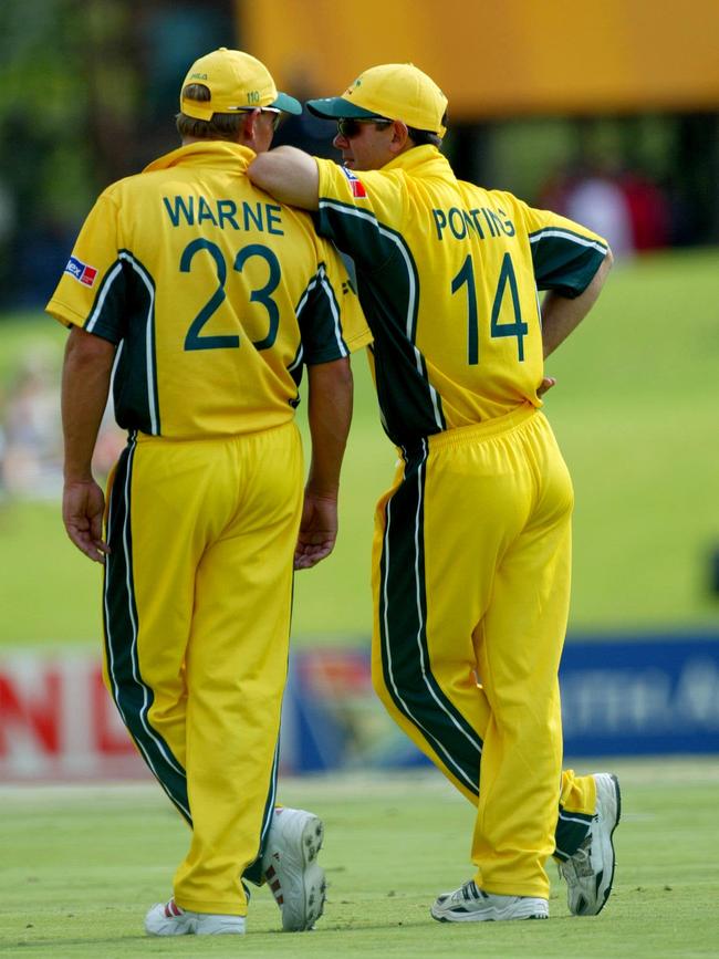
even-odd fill
[{"label": "left sleeve of the WARNE 23 jersey", "polygon": [[118,249],[117,207],[107,191],[87,215],[45,310],[111,343],[124,335],[126,270]]}]

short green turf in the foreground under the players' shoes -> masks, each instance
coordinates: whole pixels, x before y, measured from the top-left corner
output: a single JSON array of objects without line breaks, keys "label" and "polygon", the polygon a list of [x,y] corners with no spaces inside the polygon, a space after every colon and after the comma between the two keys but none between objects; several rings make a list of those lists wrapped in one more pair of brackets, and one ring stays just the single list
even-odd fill
[{"label": "short green turf in the foreground under the players' shoes", "polygon": [[615,764],[623,816],[614,892],[601,916],[569,914],[550,867],[548,922],[435,922],[435,896],[471,875],[472,810],[434,771],[290,780],[282,800],[321,815],[325,915],[281,934],[267,889],[243,940],[148,939],[143,917],[169,895],[187,832],[154,783],[4,788],[0,952],[142,957],[717,956],[717,760]]}]

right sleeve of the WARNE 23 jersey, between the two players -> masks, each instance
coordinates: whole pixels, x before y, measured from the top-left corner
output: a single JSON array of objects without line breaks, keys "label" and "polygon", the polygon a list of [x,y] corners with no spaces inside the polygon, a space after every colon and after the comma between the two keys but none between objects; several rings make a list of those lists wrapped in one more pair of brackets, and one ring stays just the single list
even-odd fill
[{"label": "right sleeve of the WARNE 23 jersey, between the two players", "polygon": [[304,362],[331,363],[366,346],[372,334],[356,290],[332,243],[317,238],[317,272],[298,307]]}]

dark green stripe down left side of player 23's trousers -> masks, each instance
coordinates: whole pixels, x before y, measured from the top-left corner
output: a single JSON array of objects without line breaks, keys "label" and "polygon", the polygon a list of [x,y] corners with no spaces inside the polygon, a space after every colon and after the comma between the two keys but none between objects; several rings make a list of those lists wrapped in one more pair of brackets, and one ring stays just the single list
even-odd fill
[{"label": "dark green stripe down left side of player 23's trousers", "polygon": [[105,655],[112,695],[145,762],[180,814],[191,824],[185,770],[149,722],[153,690],[143,681],[137,655],[137,606],[133,582],[132,473],[136,442],[123,450],[107,518],[111,553],[105,563]]}]

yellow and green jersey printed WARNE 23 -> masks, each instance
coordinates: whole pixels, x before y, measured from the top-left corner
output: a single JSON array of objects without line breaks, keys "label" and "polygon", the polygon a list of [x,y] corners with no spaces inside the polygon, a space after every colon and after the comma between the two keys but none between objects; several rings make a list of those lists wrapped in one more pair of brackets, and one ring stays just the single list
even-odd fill
[{"label": "yellow and green jersey printed WARNE 23", "polygon": [[46,310],[118,345],[115,415],[129,430],[199,437],[290,420],[303,363],[371,334],[344,264],[309,215],[246,170],[254,153],[180,147],[108,187]]}]

